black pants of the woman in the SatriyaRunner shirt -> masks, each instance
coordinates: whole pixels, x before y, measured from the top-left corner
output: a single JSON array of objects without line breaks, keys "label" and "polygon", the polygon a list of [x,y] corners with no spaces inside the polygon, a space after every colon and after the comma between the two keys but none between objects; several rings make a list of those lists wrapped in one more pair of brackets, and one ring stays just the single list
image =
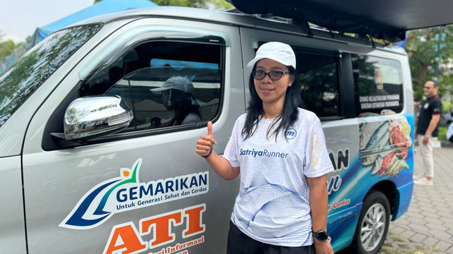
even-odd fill
[{"label": "black pants of the woman in the SatriyaRunner shirt", "polygon": [[314,254],[314,247],[273,246],[253,240],[229,222],[226,254]]}]

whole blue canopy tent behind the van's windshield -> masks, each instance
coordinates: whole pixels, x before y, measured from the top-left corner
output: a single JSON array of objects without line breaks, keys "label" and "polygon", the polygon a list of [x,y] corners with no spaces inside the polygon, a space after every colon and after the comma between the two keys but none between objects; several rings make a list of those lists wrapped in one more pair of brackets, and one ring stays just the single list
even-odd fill
[{"label": "whole blue canopy tent behind the van's windshield", "polygon": [[81,20],[91,18],[94,16],[113,13],[115,11],[125,11],[132,8],[144,8],[144,7],[154,7],[158,6],[149,0],[102,0],[98,1],[96,4],[84,8],[81,11],[77,11],[69,16],[61,18],[55,22],[52,22],[48,25],[37,28],[33,35],[31,35],[28,40],[14,50],[13,54],[6,56],[6,59],[0,63],[0,74],[4,73],[9,67],[11,67],[16,61],[25,54],[29,49],[34,47],[40,41],[44,40],[45,37],[50,35],[52,32],[60,30],[72,25]]}]

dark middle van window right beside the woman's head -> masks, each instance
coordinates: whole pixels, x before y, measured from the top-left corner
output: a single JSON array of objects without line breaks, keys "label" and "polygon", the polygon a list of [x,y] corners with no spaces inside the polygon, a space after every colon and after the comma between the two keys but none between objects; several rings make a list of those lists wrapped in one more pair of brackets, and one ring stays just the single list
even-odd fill
[{"label": "dark middle van window right beside the woman's head", "polygon": [[304,109],[318,117],[340,116],[338,56],[295,52]]}]

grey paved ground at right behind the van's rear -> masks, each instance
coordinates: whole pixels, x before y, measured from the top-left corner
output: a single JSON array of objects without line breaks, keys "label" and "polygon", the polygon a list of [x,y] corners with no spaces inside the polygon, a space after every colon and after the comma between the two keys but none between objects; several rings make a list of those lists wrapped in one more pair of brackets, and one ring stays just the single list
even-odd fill
[{"label": "grey paved ground at right behind the van's rear", "polygon": [[[416,175],[423,162],[415,147]],[[453,253],[453,148],[434,150],[434,186],[414,186],[408,212],[390,222],[379,254]]]}]

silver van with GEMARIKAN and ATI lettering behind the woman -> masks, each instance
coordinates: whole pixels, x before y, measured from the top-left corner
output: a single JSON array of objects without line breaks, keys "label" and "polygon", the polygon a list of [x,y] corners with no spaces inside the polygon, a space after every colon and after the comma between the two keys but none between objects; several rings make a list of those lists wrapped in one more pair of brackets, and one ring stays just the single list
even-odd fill
[{"label": "silver van with GEMARIKAN and ATI lettering behind the woman", "polygon": [[0,77],[0,253],[224,253],[239,179],[214,174],[195,143],[213,121],[222,154],[246,111],[246,63],[270,41],[293,47],[321,119],[333,249],[377,253],[413,189],[408,56],[311,33],[159,7],[47,37]]}]

